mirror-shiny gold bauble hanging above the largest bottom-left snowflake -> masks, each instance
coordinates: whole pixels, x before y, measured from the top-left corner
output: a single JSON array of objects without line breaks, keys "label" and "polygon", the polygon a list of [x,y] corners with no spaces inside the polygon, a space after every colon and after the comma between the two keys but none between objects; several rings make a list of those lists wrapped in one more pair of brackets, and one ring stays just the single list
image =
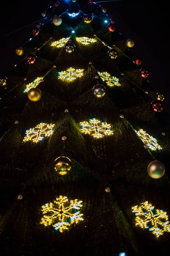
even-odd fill
[{"label": "mirror-shiny gold bauble hanging above the largest bottom-left snowflake", "polygon": [[72,164],[68,157],[57,157],[55,160],[55,170],[59,175],[66,175],[70,172]]}]

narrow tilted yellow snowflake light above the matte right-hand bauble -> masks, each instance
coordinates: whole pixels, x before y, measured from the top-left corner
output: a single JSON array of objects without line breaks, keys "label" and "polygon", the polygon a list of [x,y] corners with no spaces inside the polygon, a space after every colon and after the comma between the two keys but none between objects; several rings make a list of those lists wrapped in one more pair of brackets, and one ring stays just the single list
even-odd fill
[{"label": "narrow tilted yellow snowflake light above the matte right-hand bauble", "polygon": [[158,144],[158,141],[149,134],[147,134],[143,129],[136,131],[136,134],[143,141],[143,143],[147,145],[148,148],[150,148],[151,150],[161,149],[161,146]]}]

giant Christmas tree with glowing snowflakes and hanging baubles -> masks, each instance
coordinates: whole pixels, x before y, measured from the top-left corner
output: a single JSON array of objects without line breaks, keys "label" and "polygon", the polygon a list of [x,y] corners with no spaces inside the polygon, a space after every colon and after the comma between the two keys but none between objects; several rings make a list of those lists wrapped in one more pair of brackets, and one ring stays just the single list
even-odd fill
[{"label": "giant Christmas tree with glowing snowflakes and hanging baubles", "polygon": [[169,114],[115,28],[56,1],[0,80],[2,255],[167,253]]}]

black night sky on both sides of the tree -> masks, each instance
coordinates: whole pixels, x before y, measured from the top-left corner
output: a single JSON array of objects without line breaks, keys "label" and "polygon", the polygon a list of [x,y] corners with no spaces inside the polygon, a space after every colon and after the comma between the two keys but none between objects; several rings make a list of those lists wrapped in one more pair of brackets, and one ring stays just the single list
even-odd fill
[{"label": "black night sky on both sides of the tree", "polygon": [[[13,32],[23,26],[40,20],[41,13],[53,5],[55,0],[17,0],[9,3],[3,2],[0,15],[0,36]],[[148,3],[149,2],[149,3]],[[163,1],[162,1],[163,2]],[[136,42],[132,52],[142,58],[142,67],[150,72],[150,84],[166,97],[164,108],[170,112],[170,87],[165,77],[164,28],[166,16],[162,12],[163,3],[159,1],[115,1],[100,3],[108,10],[108,15],[116,21],[116,31]],[[167,6],[168,8],[168,6]],[[164,6],[164,10],[166,6]],[[32,37],[34,25],[21,29],[12,35],[0,39],[1,68],[0,78],[6,76],[22,57],[15,54],[15,48],[23,46]]]}]

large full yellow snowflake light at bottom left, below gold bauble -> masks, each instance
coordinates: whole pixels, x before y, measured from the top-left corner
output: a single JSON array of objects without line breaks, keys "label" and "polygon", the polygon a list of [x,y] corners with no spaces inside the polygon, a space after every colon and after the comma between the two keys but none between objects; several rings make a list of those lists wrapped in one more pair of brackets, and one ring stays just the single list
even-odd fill
[{"label": "large full yellow snowflake light at bottom left, below gold bauble", "polygon": [[40,224],[52,225],[59,232],[68,230],[71,224],[83,221],[83,214],[77,211],[80,207],[82,207],[82,201],[75,199],[69,202],[66,196],[60,195],[54,203],[42,206],[43,217]]}]

